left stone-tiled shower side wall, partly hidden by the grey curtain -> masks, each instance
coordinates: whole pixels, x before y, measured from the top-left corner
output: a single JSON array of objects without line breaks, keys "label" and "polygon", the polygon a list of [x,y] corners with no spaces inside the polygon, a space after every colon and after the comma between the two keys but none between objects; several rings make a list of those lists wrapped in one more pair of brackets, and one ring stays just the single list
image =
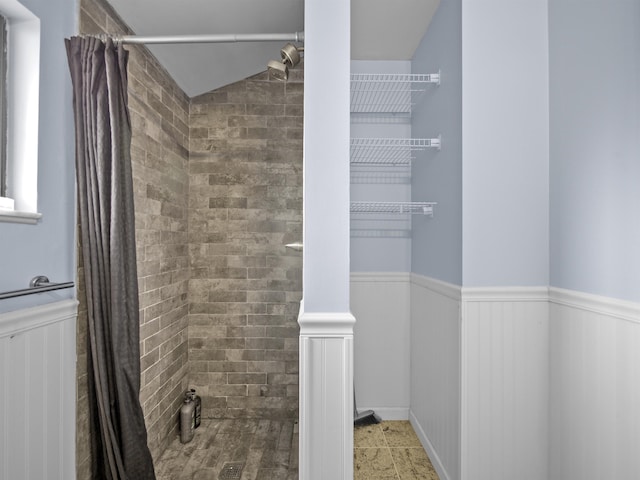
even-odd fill
[{"label": "left stone-tiled shower side wall, partly hidden by the grey curtain", "polygon": [[[104,0],[81,0],[80,32],[131,33]],[[149,448],[157,459],[177,432],[177,412],[188,385],[189,99],[146,48],[126,48],[140,301],[140,400]],[[80,289],[78,297],[76,463],[77,478],[88,479],[86,307]]]}]

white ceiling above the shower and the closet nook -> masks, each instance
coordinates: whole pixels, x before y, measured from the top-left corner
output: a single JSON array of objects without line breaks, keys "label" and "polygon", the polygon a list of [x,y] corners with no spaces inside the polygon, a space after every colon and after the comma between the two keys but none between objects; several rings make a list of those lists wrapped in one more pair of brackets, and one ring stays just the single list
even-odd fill
[{"label": "white ceiling above the shower and the closet nook", "polygon": [[[108,0],[138,35],[304,31],[304,0]],[[410,60],[440,0],[352,0],[351,58]],[[280,60],[284,42],[149,45],[190,97]]]}]

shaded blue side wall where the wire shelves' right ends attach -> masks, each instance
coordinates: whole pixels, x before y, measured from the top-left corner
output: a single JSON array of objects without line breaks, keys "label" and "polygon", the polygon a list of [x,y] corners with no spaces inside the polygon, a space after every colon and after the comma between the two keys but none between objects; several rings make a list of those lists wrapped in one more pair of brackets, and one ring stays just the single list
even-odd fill
[{"label": "shaded blue side wall where the wire shelves' right ends attach", "polygon": [[442,0],[412,62],[413,73],[442,70],[412,122],[415,138],[442,135],[442,150],[413,162],[413,201],[438,202],[434,217],[413,221],[411,271],[462,284],[462,25],[460,0]]}]

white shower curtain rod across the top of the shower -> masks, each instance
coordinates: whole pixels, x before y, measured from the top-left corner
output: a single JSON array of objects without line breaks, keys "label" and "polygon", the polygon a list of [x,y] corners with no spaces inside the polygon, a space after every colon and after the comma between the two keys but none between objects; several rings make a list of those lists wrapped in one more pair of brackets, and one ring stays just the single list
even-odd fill
[{"label": "white shower curtain rod across the top of the shower", "polygon": [[304,32],[295,33],[229,33],[211,35],[113,35],[128,44],[161,43],[235,43],[235,42],[304,42]]}]

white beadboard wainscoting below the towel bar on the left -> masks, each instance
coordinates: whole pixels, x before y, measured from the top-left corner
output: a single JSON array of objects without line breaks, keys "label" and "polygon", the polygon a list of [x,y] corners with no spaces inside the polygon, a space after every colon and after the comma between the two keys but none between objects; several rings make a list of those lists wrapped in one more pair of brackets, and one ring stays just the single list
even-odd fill
[{"label": "white beadboard wainscoting below the towel bar on the left", "polygon": [[0,315],[0,478],[75,478],[77,302]]}]

